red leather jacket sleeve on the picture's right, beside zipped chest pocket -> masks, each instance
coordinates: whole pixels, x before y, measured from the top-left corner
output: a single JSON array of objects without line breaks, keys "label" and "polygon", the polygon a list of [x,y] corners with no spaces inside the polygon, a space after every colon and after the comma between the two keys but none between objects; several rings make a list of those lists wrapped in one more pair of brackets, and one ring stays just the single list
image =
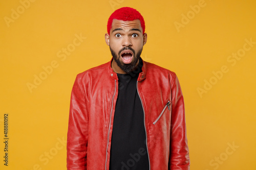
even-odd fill
[{"label": "red leather jacket sleeve on the picture's right, beside zipped chest pocket", "polygon": [[173,76],[170,86],[172,91],[172,125],[170,131],[169,169],[189,170],[190,161],[186,137],[184,101],[176,75]]}]

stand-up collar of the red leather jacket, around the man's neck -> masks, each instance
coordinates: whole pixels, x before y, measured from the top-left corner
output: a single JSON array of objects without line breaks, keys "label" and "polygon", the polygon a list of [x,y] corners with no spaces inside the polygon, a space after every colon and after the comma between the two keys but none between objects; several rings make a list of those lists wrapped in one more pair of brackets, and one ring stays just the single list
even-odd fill
[{"label": "stand-up collar of the red leather jacket, around the man's neck", "polygon": [[[113,57],[108,62],[108,73],[109,73],[109,76],[112,79],[118,80],[116,72],[114,72],[113,68],[111,67],[112,60],[113,60]],[[142,60],[142,58],[141,58],[141,60]],[[146,78],[146,62],[143,61],[143,60],[142,60],[142,62],[143,62],[143,65],[142,65],[141,72],[139,74],[139,77],[138,77],[137,81],[142,81],[142,80],[144,80]]]}]

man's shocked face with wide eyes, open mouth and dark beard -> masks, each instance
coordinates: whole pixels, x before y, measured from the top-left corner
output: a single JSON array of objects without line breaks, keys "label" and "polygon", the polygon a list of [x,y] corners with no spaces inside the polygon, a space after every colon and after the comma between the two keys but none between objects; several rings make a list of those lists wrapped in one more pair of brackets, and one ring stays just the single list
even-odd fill
[{"label": "man's shocked face with wide eyes, open mouth and dark beard", "polygon": [[113,19],[110,35],[105,34],[105,40],[114,58],[112,68],[115,72],[125,74],[137,67],[146,38],[146,33],[142,33],[139,19]]}]

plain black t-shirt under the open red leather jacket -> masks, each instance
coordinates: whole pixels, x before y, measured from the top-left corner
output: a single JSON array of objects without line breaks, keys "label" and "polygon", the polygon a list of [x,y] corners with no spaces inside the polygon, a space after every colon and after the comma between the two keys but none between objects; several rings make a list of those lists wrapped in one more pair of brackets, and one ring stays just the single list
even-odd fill
[{"label": "plain black t-shirt under the open red leather jacket", "polygon": [[[141,60],[139,65],[142,65]],[[117,74],[118,97],[111,141],[110,170],[149,169],[144,112],[137,91],[141,68],[134,72]]]}]

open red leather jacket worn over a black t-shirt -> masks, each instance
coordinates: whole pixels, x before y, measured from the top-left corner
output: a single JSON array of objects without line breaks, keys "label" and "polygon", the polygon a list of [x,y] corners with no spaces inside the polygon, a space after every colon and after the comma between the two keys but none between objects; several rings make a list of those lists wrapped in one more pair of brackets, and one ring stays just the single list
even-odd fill
[{"label": "open red leather jacket worn over a black t-shirt", "polygon": [[[111,68],[111,61],[76,77],[67,141],[69,170],[109,170],[118,95],[118,78]],[[150,169],[188,170],[184,102],[176,74],[143,61],[137,90],[144,110]]]}]

